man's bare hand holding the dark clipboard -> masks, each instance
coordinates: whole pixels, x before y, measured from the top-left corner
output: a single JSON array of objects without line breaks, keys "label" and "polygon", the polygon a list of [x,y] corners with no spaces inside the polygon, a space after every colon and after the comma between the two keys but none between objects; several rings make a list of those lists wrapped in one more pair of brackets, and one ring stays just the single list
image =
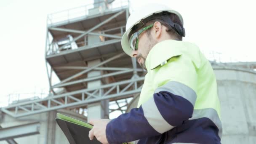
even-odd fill
[{"label": "man's bare hand holding the dark clipboard", "polygon": [[93,125],[91,131],[89,131],[89,138],[93,140],[93,136],[96,137],[98,141],[102,144],[108,144],[107,136],[106,136],[106,127],[107,123],[109,123],[109,119],[92,119],[89,121],[90,124]]}]

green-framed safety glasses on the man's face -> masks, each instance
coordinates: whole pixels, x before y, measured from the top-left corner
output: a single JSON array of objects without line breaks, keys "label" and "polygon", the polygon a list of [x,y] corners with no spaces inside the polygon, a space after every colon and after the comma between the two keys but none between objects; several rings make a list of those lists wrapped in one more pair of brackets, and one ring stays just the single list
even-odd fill
[{"label": "green-framed safety glasses on the man's face", "polygon": [[138,49],[138,43],[139,43],[139,35],[144,32],[145,30],[153,27],[154,24],[151,24],[147,27],[144,27],[143,29],[138,30],[137,32],[135,32],[133,35],[131,35],[131,38],[129,40],[131,49],[133,51],[136,51]]}]

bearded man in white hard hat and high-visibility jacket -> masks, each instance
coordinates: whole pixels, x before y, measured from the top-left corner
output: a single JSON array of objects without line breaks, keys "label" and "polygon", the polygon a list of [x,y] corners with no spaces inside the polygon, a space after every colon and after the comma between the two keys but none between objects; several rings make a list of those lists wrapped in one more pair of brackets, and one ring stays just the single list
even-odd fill
[{"label": "bearded man in white hard hat and high-visibility jacket", "polygon": [[122,48],[147,69],[138,108],[114,120],[91,120],[89,133],[104,144],[220,144],[216,78],[197,45],[183,42],[181,15],[165,5],[135,11]]}]

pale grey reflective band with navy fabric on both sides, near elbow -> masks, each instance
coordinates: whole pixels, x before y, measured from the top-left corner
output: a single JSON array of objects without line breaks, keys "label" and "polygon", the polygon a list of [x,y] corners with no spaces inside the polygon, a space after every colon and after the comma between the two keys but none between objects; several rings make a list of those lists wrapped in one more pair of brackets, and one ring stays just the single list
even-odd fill
[{"label": "pale grey reflective band with navy fabric on both sides, near elbow", "polygon": [[164,133],[165,131],[169,131],[174,128],[166,122],[160,114],[157,105],[155,104],[154,97],[142,104],[141,107],[144,112],[144,117],[146,117],[149,125],[151,125],[158,133]]}]

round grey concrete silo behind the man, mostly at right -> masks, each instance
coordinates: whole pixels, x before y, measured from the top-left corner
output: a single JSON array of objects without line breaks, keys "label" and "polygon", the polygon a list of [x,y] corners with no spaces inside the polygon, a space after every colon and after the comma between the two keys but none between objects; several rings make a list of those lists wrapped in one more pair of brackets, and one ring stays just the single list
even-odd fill
[{"label": "round grey concrete silo behind the man, mostly at right", "polygon": [[[221,103],[222,144],[256,144],[256,72],[213,67]],[[137,107],[139,97],[128,106]]]}]

